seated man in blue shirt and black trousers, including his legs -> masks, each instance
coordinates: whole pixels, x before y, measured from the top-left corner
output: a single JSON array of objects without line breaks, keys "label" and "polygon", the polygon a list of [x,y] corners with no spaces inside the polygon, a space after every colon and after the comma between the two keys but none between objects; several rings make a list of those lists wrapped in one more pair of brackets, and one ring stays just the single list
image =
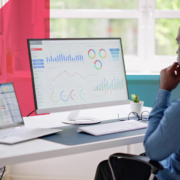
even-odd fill
[{"label": "seated man in blue shirt and black trousers, including his legs", "polygon": [[[176,40],[179,45],[176,53],[179,56],[180,28]],[[145,134],[146,155],[152,160],[160,161],[164,166],[164,170],[157,174],[158,180],[180,180],[180,99],[173,101],[169,106],[171,91],[177,87],[179,82],[180,66],[177,62],[161,71],[160,88]],[[141,168],[141,173],[136,173],[139,168]],[[129,160],[119,159],[117,169],[120,177],[123,175],[122,179],[133,177],[140,180],[150,175],[147,165]],[[99,164],[95,180],[113,180],[107,160]]]}]

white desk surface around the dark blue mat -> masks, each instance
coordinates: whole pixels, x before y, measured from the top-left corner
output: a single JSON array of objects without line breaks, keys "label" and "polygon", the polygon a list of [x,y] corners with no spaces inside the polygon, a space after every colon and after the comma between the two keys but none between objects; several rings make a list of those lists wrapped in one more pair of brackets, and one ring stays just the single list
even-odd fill
[{"label": "white desk surface around the dark blue mat", "polygon": [[[151,111],[151,108],[144,107],[143,110]],[[119,117],[127,117],[130,111],[130,105],[121,105],[105,108],[97,108],[83,110],[79,116],[96,117],[100,120],[117,119]],[[24,122],[28,127],[60,127],[65,126],[61,123],[69,112],[54,113],[50,115],[25,117]],[[117,146],[130,145],[143,141],[144,134],[131,136],[127,138],[119,138],[114,140],[106,140],[101,142],[87,143],[75,146],[67,146],[57,144],[46,140],[35,139],[15,145],[0,144],[0,167],[4,165],[17,164],[27,161],[53,158],[56,156],[66,156],[83,152],[101,150]]]}]

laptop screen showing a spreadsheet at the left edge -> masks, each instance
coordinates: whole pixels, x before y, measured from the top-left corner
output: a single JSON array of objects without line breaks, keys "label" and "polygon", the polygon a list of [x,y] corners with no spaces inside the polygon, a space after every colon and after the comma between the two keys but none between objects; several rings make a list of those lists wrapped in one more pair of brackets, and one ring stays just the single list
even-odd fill
[{"label": "laptop screen showing a spreadsheet at the left edge", "polygon": [[22,123],[23,118],[13,84],[0,84],[0,127],[9,127]]}]

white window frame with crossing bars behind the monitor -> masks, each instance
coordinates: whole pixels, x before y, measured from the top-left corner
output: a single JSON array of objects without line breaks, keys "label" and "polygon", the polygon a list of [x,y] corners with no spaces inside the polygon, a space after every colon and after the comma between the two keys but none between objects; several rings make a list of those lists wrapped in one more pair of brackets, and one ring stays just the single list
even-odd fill
[{"label": "white window frame with crossing bars behind the monitor", "polygon": [[[156,0],[139,0],[137,9],[50,9],[50,18],[137,19],[137,55],[124,55],[127,74],[159,74],[176,56],[155,54],[156,19],[179,19],[180,10],[156,9]],[[176,37],[174,37],[175,39]],[[147,43],[148,42],[148,43]],[[175,50],[176,51],[176,50]],[[156,66],[154,66],[156,64]]]}]

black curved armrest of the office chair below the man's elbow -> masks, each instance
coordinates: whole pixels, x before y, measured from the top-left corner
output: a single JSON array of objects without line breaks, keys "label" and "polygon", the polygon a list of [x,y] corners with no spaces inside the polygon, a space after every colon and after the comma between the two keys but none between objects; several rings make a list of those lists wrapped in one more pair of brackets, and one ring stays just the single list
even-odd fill
[{"label": "black curved armrest of the office chair below the man's elbow", "polygon": [[[136,163],[138,162],[139,164],[141,164],[143,166],[148,165],[148,167],[150,167],[151,174],[150,174],[150,177],[149,177],[149,174],[144,175],[143,180],[153,180],[155,175],[158,173],[158,171],[164,169],[163,166],[159,162],[150,160],[147,156],[138,156],[138,155],[132,155],[132,154],[126,154],[126,153],[116,153],[116,154],[112,154],[111,156],[109,156],[109,159],[108,159],[108,163],[109,163],[109,166],[110,166],[110,169],[112,172],[113,180],[126,179],[123,177],[123,175],[119,176],[119,173],[117,173],[118,168],[117,168],[116,163],[117,163],[117,159],[119,159],[119,158],[122,158],[120,160],[124,160],[124,162],[125,161],[128,161],[128,162],[135,161]],[[122,163],[123,163],[123,161],[122,161]],[[141,172],[142,171],[139,168],[139,173],[141,173]],[[147,177],[147,175],[148,175],[148,177]],[[129,179],[131,179],[131,178],[129,178]]]}]

